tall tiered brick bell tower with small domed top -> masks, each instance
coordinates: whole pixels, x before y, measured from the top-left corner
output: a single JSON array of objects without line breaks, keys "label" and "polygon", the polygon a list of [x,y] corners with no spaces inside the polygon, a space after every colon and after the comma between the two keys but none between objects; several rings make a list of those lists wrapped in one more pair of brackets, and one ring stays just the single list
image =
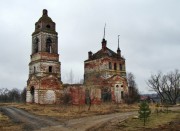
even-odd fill
[{"label": "tall tiered brick bell tower with small domed top", "polygon": [[32,33],[27,102],[40,104],[58,102],[62,87],[60,66],[56,24],[48,16],[48,11],[44,9]]}]

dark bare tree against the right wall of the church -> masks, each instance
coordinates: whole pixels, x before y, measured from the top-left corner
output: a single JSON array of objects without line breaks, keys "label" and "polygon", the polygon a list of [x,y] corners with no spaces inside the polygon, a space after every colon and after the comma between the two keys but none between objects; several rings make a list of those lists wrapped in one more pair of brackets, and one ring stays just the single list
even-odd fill
[{"label": "dark bare tree against the right wall of the church", "polygon": [[125,102],[128,104],[132,104],[139,100],[140,94],[137,88],[137,84],[135,82],[135,76],[131,72],[127,73],[127,81],[129,94],[127,97],[125,97]]}]

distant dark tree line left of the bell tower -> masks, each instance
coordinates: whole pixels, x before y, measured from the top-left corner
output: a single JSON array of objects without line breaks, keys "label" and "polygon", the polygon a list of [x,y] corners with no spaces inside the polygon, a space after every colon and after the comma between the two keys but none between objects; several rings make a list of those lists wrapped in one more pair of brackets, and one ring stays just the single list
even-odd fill
[{"label": "distant dark tree line left of the bell tower", "polygon": [[17,88],[13,88],[11,90],[7,88],[1,88],[0,102],[26,102],[26,88],[24,88],[23,90],[19,90]]}]

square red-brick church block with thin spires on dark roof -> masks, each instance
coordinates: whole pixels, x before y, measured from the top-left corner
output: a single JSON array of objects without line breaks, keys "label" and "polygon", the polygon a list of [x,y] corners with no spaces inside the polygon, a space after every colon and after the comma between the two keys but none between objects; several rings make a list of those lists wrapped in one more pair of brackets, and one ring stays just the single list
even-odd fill
[{"label": "square red-brick church block with thin spires on dark roof", "polygon": [[107,47],[105,38],[102,48],[96,53],[88,52],[84,61],[84,84],[89,90],[94,90],[99,101],[122,102],[128,93],[125,59],[119,48],[117,53]]}]

